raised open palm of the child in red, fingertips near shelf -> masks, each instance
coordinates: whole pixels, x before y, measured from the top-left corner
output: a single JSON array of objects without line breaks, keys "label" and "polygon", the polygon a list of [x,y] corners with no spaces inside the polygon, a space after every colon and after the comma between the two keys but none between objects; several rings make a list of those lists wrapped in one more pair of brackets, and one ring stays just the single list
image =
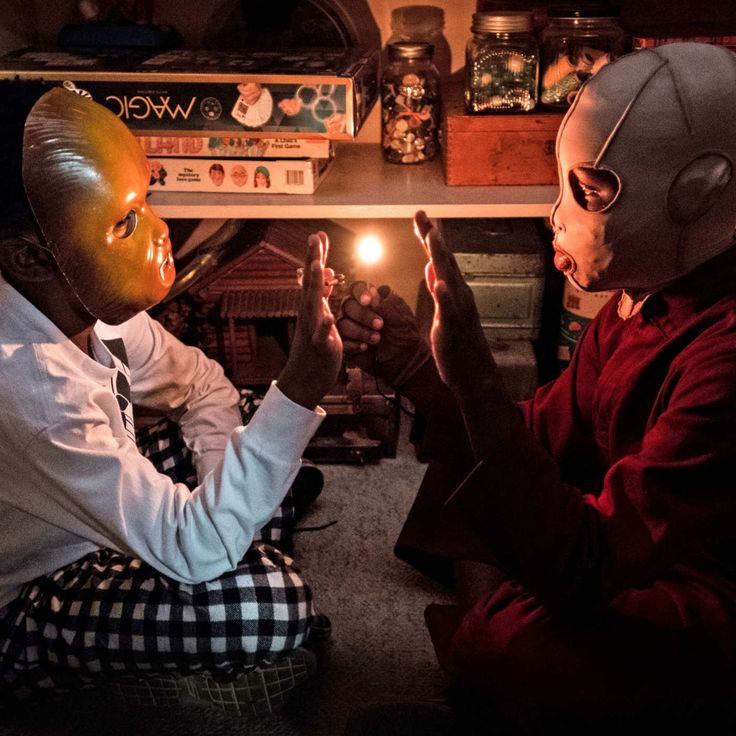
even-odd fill
[{"label": "raised open palm of the child in red, fingertips near shelf", "polygon": [[455,393],[472,395],[495,368],[473,292],[424,212],[416,213],[414,224],[429,256],[424,275],[434,300],[430,342],[437,369]]}]

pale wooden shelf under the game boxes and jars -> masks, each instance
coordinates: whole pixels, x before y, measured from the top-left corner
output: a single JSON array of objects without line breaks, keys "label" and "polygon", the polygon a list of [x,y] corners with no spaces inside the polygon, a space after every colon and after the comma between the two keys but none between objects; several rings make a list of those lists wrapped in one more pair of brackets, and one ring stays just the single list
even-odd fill
[{"label": "pale wooden shelf under the game boxes and jars", "polygon": [[314,194],[154,192],[168,218],[547,217],[555,186],[448,187],[441,161],[401,166],[383,161],[378,144],[343,143]]}]

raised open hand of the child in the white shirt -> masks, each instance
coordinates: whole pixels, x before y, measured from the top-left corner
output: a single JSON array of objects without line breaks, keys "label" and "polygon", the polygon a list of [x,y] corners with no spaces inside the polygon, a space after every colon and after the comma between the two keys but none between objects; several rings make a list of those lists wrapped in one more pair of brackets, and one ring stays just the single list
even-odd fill
[{"label": "raised open hand of the child in the white shirt", "polygon": [[328,250],[326,233],[309,236],[294,341],[277,381],[288,398],[308,409],[335,385],[342,364],[342,340],[327,304],[331,287],[326,281],[332,274],[325,266]]}]

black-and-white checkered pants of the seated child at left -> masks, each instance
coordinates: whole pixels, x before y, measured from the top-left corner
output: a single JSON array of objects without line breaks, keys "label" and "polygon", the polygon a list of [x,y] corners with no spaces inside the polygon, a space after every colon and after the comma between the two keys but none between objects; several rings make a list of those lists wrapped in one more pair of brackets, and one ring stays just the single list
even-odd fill
[{"label": "black-and-white checkered pants of the seated child at left", "polygon": [[[244,422],[257,408],[252,393]],[[161,472],[196,483],[176,425],[161,422],[137,440]],[[124,674],[230,679],[299,646],[315,615],[312,594],[293,559],[266,543],[283,540],[293,516],[289,494],[238,567],[211,582],[179,583],[103,549],[29,583],[0,610],[2,699]]]}]

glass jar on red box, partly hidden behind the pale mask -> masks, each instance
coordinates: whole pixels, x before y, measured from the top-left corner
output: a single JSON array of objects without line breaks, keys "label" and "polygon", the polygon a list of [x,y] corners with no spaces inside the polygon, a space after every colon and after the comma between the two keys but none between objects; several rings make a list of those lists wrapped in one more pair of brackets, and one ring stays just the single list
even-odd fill
[{"label": "glass jar on red box, partly hidden behind the pale mask", "polygon": [[610,5],[561,5],[540,36],[540,103],[566,110],[583,82],[624,52],[624,32]]}]

